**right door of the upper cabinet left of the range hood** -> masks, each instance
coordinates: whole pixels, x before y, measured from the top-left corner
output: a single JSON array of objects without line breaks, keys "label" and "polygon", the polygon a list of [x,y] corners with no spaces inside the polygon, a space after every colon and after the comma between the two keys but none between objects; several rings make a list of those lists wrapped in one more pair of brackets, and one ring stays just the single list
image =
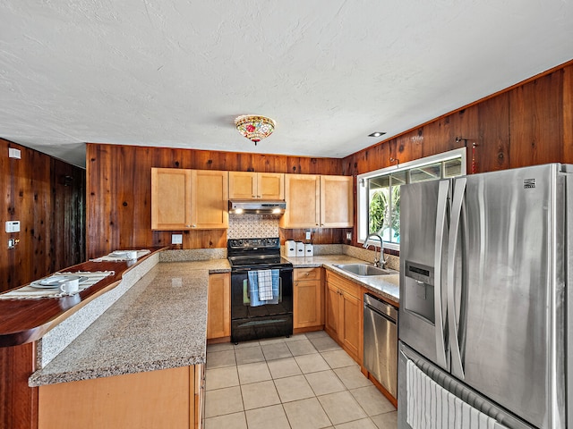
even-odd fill
[{"label": "right door of the upper cabinet left of the range hood", "polygon": [[227,228],[228,172],[192,170],[192,228]]}]

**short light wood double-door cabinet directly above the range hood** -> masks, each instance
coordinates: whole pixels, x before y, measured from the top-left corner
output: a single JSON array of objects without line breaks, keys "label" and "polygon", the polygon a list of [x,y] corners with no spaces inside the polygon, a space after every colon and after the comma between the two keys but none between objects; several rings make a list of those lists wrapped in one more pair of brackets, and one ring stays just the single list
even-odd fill
[{"label": "short light wood double-door cabinet directly above the range hood", "polygon": [[231,199],[285,199],[285,175],[281,172],[229,172]]}]

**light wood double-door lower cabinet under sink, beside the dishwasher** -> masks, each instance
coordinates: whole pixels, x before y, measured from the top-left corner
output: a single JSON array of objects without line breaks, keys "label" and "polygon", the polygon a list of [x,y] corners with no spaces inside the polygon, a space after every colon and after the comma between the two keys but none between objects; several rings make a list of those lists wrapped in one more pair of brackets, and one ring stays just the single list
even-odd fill
[{"label": "light wood double-door lower cabinet under sink, beside the dishwasher", "polygon": [[326,272],[326,320],[324,330],[362,365],[363,311],[361,287]]}]

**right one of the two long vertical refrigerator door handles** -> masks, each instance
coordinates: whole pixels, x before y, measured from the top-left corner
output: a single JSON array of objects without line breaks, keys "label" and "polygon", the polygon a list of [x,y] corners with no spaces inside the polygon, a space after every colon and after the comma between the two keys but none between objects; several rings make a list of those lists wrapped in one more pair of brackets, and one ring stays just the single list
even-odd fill
[{"label": "right one of the two long vertical refrigerator door handles", "polygon": [[456,254],[458,252],[459,226],[461,223],[462,205],[466,194],[466,178],[456,180],[454,187],[454,197],[451,205],[451,221],[449,225],[449,248],[448,248],[448,327],[449,327],[449,349],[451,352],[451,373],[459,379],[466,378],[464,366],[462,364],[461,351],[458,341],[458,313],[456,312],[456,288],[457,266]]}]

